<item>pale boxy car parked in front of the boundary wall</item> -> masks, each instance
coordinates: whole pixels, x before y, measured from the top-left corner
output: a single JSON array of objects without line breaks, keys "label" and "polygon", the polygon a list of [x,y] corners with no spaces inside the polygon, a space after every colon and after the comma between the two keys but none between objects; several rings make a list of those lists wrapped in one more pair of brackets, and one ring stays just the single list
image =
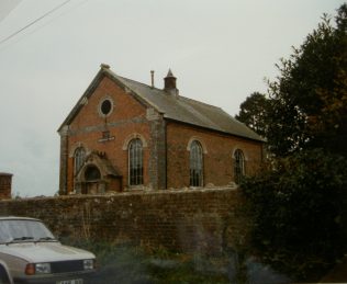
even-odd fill
[{"label": "pale boxy car parked in front of the boundary wall", "polygon": [[93,253],[63,246],[34,218],[0,217],[0,261],[15,284],[85,284],[96,272]]}]

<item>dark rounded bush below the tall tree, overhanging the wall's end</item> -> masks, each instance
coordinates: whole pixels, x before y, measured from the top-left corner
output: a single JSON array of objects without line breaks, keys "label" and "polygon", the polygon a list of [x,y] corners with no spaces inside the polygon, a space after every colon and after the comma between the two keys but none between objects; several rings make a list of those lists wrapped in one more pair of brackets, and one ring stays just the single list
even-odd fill
[{"label": "dark rounded bush below the tall tree, overhanging the wall's end", "polygon": [[347,249],[347,161],[313,149],[278,159],[275,168],[243,182],[253,245],[273,268],[303,280]]}]

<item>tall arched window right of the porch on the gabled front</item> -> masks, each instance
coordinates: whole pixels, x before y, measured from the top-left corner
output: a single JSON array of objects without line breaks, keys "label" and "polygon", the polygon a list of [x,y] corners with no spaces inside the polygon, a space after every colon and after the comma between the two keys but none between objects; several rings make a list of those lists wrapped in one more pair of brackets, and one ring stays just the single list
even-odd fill
[{"label": "tall arched window right of the porch on the gabled front", "polygon": [[139,185],[144,183],[143,144],[135,138],[128,144],[128,184]]}]

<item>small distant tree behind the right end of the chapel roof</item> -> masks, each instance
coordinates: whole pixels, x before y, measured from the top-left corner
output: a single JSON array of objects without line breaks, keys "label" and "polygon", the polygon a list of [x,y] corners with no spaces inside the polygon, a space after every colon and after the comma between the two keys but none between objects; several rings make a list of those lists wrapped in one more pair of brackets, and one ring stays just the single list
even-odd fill
[{"label": "small distant tree behind the right end of the chapel roof", "polygon": [[269,100],[259,92],[251,93],[239,106],[236,120],[246,124],[260,136],[265,137],[267,132],[267,112]]}]

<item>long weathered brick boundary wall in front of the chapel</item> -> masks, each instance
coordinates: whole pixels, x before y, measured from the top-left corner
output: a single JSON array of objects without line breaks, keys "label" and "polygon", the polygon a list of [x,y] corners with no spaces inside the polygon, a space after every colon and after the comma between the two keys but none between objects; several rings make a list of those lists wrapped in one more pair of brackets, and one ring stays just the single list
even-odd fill
[{"label": "long weathered brick boundary wall in front of the chapel", "polygon": [[240,202],[228,188],[141,191],[1,201],[0,216],[40,218],[61,240],[130,241],[210,254],[246,241]]}]

